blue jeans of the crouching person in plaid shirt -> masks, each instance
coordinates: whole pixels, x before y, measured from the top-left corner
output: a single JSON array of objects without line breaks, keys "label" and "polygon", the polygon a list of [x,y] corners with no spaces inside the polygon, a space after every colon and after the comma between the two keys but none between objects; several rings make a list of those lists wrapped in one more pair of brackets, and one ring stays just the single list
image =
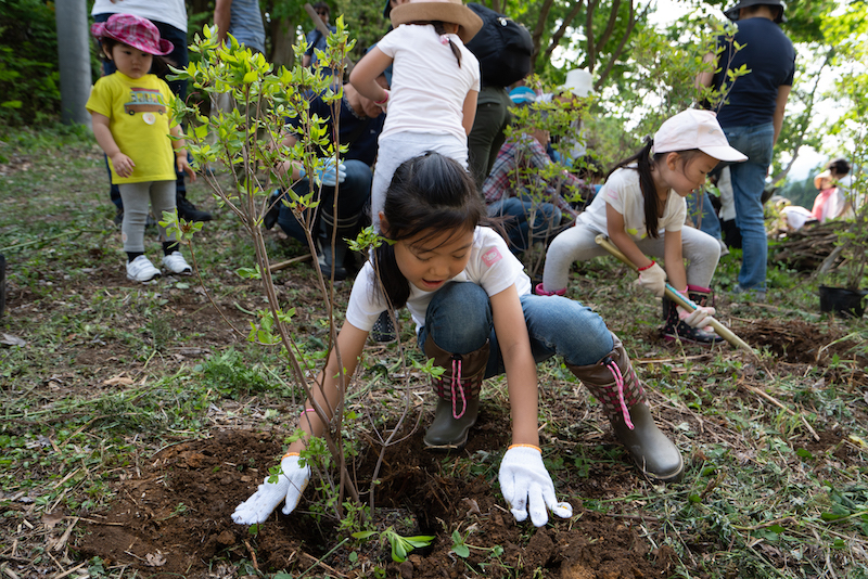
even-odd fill
[{"label": "blue jeans of the crouching person in plaid shirt", "polygon": [[[534,211],[533,224],[528,220]],[[523,197],[507,197],[488,206],[490,217],[503,217],[503,229],[509,236],[509,248],[513,254],[527,249],[531,236],[534,241],[554,237],[559,232],[561,210],[551,203],[535,203]]]}]

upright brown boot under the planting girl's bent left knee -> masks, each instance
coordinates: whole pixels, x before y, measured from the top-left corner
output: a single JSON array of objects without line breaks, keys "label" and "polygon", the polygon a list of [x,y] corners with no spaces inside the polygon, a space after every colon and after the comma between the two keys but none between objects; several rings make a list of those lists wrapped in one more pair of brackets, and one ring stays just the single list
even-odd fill
[{"label": "upright brown boot under the planting girl's bent left knee", "polygon": [[433,450],[463,448],[470,428],[476,424],[480,411],[480,388],[488,363],[488,342],[470,353],[451,353],[425,339],[425,356],[446,369],[441,377],[432,379],[439,400],[434,420],[425,430],[425,446]]}]

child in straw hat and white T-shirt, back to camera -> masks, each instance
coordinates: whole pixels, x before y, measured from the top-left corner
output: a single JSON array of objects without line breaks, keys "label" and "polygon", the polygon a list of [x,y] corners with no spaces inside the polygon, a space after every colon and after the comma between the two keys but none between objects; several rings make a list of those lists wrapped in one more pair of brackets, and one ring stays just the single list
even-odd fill
[{"label": "child in straw hat and white T-shirt, back to camera", "polygon": [[[461,0],[410,0],[395,7],[391,18],[395,29],[349,75],[356,90],[388,108],[371,184],[375,227],[392,176],[405,160],[436,151],[467,167],[480,92],[480,63],[464,42],[482,20]],[[376,77],[393,63],[390,91]]]}]

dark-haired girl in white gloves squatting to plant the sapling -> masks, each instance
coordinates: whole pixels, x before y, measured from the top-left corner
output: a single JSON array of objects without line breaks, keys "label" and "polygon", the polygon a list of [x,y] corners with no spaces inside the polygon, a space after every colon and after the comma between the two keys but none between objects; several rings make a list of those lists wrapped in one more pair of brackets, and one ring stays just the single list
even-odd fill
[{"label": "dark-haired girl in white gloves squatting to plant the sapling", "polygon": [[299,452],[308,437],[322,435],[320,415],[334,419],[342,384],[352,377],[374,321],[390,307],[407,306],[419,347],[445,369],[432,378],[438,402],[424,435],[429,448],[463,447],[476,421],[482,381],[506,373],[512,443],[499,481],[516,520],[529,515],[542,526],[549,511],[572,514],[569,503],[556,499],[537,430],[536,363],[554,355],[602,402],[615,436],[646,476],[680,479],[680,452],[654,424],[621,340],[582,304],[533,295],[521,262],[485,227],[485,216],[472,177],[455,160],[426,153],[398,167],[380,214],[390,243],[374,250],[378,271],[369,261],[356,278],[337,335],[343,379],[332,351],[298,419],[305,438],[290,446],[279,477],[266,479],[235,509],[235,523],[261,523],[284,500],[284,514],[295,509],[310,478]]}]

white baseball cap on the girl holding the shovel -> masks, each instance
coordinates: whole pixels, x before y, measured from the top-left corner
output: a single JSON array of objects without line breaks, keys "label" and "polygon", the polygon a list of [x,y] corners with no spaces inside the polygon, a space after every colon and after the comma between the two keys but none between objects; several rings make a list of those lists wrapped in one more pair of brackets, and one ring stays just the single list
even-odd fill
[{"label": "white baseball cap on the girl holding the shovel", "polygon": [[748,160],[746,155],[729,146],[717,115],[711,111],[682,111],[668,118],[654,133],[654,154],[691,149],[699,149],[717,160]]}]

